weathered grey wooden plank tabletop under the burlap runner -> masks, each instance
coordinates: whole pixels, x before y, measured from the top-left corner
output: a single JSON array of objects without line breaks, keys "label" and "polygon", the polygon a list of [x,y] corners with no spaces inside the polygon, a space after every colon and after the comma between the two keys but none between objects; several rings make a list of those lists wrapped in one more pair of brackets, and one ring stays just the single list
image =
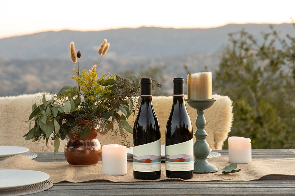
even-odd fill
[{"label": "weathered grey wooden plank tabletop under the burlap runner", "polygon": [[[228,150],[216,150],[228,156]],[[39,162],[65,161],[63,153],[37,153]],[[295,158],[288,149],[252,150],[252,158]],[[295,165],[294,165],[295,167]],[[237,195],[237,194],[292,194],[295,195],[294,176],[265,176],[248,182],[110,182],[91,181],[84,183],[61,182],[36,195]]]}]

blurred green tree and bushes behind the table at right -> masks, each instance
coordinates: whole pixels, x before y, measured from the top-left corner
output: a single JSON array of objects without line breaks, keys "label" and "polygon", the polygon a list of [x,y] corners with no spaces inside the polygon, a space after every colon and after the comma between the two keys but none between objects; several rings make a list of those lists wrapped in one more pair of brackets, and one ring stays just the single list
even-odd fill
[{"label": "blurred green tree and bushes behind the table at right", "polygon": [[263,42],[244,30],[229,34],[214,88],[233,101],[229,136],[251,138],[254,149],[295,148],[295,37],[270,29]]}]

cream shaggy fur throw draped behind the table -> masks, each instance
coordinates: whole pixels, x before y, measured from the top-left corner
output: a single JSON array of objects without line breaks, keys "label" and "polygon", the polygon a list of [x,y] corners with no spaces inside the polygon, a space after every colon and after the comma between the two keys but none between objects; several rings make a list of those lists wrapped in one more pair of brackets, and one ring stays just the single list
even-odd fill
[{"label": "cream shaggy fur throw draped behind the table", "polygon": [[[48,147],[46,147],[43,140],[40,140],[37,145],[37,142],[24,140],[24,137],[22,137],[29,129],[29,123],[25,122],[25,120],[28,119],[32,111],[32,99],[40,94],[0,97],[0,145],[24,146],[30,148],[31,152],[53,152],[54,145],[52,140],[48,141]],[[213,95],[213,97],[216,97],[217,101],[211,108],[205,111],[207,121],[205,130],[208,133],[207,142],[212,149],[222,149],[223,142],[226,140],[232,126],[232,101],[227,96]],[[159,119],[162,144],[165,144],[165,128],[172,107],[172,100],[172,96],[153,97],[153,107]],[[196,110],[188,105],[187,110],[195,132]],[[136,116],[129,118],[128,122],[131,126],[133,126],[135,118]],[[120,137],[111,137],[110,135],[100,135],[99,140],[102,145],[121,143]],[[128,140],[132,143],[132,134],[129,134]],[[60,152],[63,151],[65,144],[66,140],[60,143]]]}]

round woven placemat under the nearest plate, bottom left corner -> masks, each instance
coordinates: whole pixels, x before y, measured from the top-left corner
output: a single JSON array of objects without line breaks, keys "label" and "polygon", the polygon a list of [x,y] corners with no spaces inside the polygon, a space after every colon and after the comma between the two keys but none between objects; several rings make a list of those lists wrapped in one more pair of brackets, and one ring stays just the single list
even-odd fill
[{"label": "round woven placemat under the nearest plate, bottom left corner", "polygon": [[0,190],[0,195],[2,196],[17,196],[17,195],[30,195],[38,192],[45,191],[47,189],[50,189],[53,186],[53,183],[49,180],[39,182],[36,184],[23,186],[18,189],[10,189],[10,190]]}]

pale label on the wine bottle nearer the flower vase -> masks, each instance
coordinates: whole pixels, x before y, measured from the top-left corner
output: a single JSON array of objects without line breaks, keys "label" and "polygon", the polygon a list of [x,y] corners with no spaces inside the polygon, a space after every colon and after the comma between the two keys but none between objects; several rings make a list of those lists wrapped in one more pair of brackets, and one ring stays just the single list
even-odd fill
[{"label": "pale label on the wine bottle nearer the flower vase", "polygon": [[140,172],[161,170],[161,139],[133,147],[133,170]]}]

